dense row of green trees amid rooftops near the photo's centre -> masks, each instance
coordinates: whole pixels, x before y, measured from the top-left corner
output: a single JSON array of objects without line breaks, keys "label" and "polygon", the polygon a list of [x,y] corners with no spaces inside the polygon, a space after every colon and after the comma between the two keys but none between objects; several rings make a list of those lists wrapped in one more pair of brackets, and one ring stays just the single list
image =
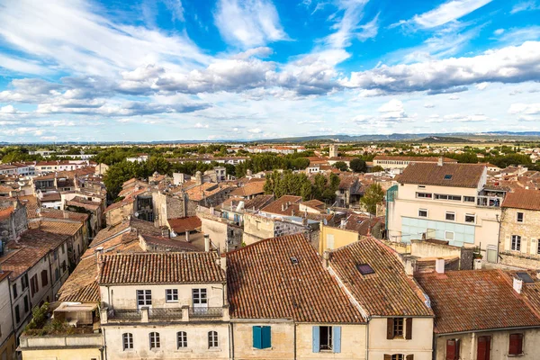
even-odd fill
[{"label": "dense row of green trees amid rooftops near the photo's centre", "polygon": [[312,179],[303,173],[286,170],[283,173],[274,171],[266,176],[265,193],[273,193],[275,198],[283,195],[302,196],[302,200],[318,199],[323,202],[334,202],[339,187],[339,176],[332,174],[315,175]]}]

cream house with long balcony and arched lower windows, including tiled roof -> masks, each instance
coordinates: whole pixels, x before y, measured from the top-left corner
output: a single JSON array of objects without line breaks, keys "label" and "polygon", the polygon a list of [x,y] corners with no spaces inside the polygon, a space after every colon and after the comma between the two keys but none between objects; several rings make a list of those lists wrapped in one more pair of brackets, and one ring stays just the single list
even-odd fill
[{"label": "cream house with long balcony and arched lower windows, including tiled roof", "polygon": [[223,267],[220,261],[213,252],[98,254],[106,356],[228,359],[225,258]]}]

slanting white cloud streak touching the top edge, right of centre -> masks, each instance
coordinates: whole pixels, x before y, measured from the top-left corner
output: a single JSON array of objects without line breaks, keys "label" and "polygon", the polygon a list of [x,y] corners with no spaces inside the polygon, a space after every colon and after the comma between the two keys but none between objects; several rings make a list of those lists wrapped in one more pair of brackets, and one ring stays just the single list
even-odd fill
[{"label": "slanting white cloud streak touching the top edge, right of centre", "polygon": [[473,13],[476,9],[489,3],[491,0],[450,0],[428,11],[428,13],[415,15],[412,21],[422,28],[434,28]]}]

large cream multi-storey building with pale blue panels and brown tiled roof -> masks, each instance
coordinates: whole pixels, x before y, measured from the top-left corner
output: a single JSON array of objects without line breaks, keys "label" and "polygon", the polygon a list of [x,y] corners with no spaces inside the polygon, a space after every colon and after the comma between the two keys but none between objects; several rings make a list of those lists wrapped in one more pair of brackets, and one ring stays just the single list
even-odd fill
[{"label": "large cream multi-storey building with pale blue panels and brown tiled roof", "polygon": [[482,164],[412,163],[386,195],[391,241],[435,238],[450,245],[480,247],[497,262],[501,204],[506,191],[486,184]]}]

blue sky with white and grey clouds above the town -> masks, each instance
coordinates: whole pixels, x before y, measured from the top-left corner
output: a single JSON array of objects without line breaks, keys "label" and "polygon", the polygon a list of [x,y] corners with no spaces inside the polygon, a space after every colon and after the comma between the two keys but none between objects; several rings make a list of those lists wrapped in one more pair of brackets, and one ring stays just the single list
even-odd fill
[{"label": "blue sky with white and grey clouds above the town", "polygon": [[0,141],[540,130],[540,0],[0,0]]}]

